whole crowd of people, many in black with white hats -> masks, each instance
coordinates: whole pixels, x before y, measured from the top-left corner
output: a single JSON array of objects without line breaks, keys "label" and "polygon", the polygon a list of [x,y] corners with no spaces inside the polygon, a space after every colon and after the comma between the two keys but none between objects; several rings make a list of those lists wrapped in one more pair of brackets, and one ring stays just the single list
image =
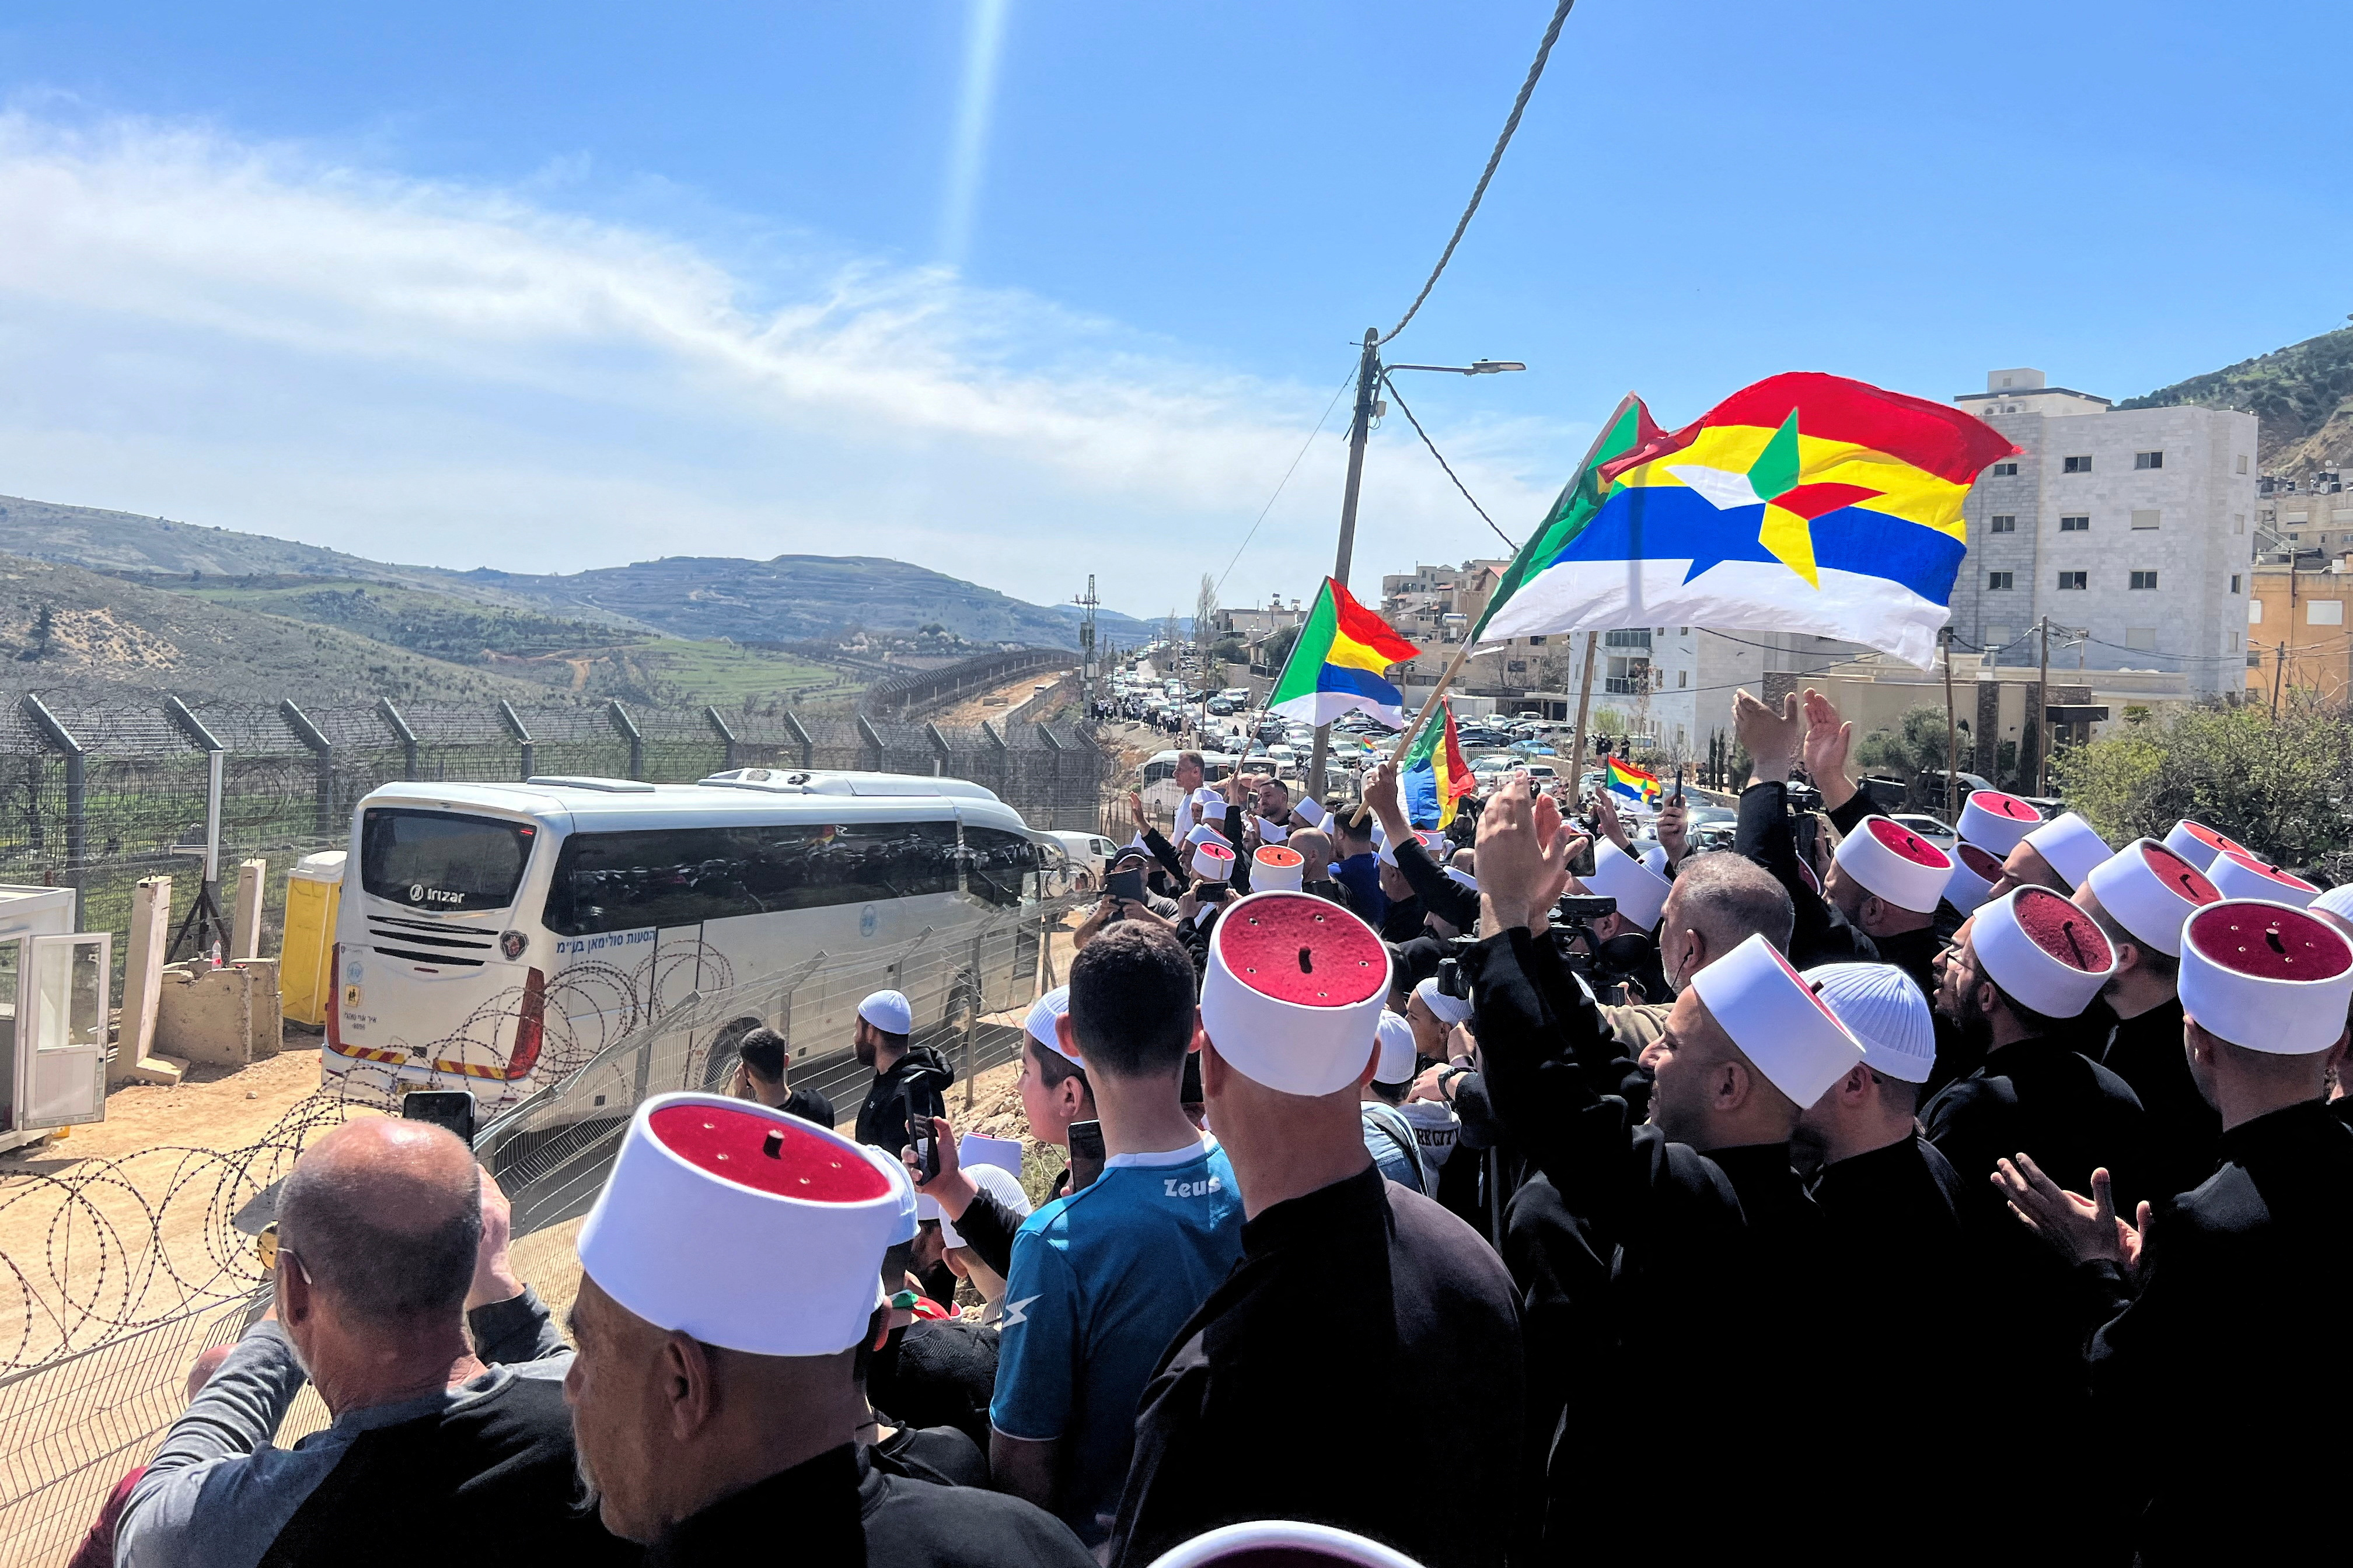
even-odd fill
[{"label": "whole crowd of people, many in black with white hats", "polygon": [[341,1126],[113,1561],[2332,1556],[2353,886],[1734,726],[1713,851],[1184,755],[1024,1027],[1035,1204],[896,992],[852,1133],[765,1027],[635,1110],[562,1331],[456,1138]]}]

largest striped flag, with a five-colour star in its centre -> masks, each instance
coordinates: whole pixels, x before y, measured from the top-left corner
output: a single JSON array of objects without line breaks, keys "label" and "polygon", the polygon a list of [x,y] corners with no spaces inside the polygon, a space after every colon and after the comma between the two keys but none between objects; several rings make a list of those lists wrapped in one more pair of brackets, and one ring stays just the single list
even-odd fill
[{"label": "largest striped flag, with a five-colour star in its centre", "polygon": [[[1605,440],[1640,411],[1628,402]],[[1927,665],[1967,550],[1960,505],[2014,451],[1951,404],[1769,376],[1605,458],[1591,510],[1555,503],[1558,524],[1537,529],[1475,637],[1680,621],[1842,637]]]}]

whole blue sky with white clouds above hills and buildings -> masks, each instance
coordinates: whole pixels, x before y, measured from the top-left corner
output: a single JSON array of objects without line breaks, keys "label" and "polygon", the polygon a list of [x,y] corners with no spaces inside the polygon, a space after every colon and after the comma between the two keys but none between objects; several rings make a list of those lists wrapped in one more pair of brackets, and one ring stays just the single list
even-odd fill
[{"label": "whole blue sky with white clouds above hills and buildings", "polygon": [[[1548,12],[19,0],[0,494],[1191,604],[1419,287]],[[2341,136],[2282,73],[2337,21],[1581,0],[1393,350],[1529,371],[1407,395],[1520,536],[1626,388],[1666,423],[1779,369],[2125,397],[2325,331]],[[1228,602],[1327,569],[1341,416]],[[1499,548],[1391,418],[1358,581]]]}]

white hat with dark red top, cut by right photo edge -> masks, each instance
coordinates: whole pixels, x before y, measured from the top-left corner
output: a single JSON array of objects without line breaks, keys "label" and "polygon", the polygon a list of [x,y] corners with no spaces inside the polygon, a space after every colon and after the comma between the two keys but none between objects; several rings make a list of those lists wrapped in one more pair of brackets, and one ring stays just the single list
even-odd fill
[{"label": "white hat with dark red top, cut by right photo edge", "polygon": [[2233,1046],[2271,1056],[2327,1051],[2346,1032],[2353,947],[2337,926],[2285,903],[2209,903],[2181,929],[2181,1011]]}]

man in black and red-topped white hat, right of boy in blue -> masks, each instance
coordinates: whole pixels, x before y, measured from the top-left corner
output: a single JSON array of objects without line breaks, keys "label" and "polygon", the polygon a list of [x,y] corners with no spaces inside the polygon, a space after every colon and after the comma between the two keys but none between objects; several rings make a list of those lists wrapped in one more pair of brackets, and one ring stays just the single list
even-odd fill
[{"label": "man in black and red-topped white hat, right of boy in blue", "polygon": [[[1384,1180],[1365,1147],[1358,1095],[1386,997],[1388,950],[1320,898],[1259,893],[1217,926],[1200,1074],[1249,1222],[1242,1260],[1144,1389],[1113,1563],[1249,1519],[1339,1526],[1431,1568],[1504,1556],[1513,1288],[1478,1232]],[[1417,1453],[1449,1458],[1412,1500],[1369,1483],[1341,1436],[1400,1413]]]}]

